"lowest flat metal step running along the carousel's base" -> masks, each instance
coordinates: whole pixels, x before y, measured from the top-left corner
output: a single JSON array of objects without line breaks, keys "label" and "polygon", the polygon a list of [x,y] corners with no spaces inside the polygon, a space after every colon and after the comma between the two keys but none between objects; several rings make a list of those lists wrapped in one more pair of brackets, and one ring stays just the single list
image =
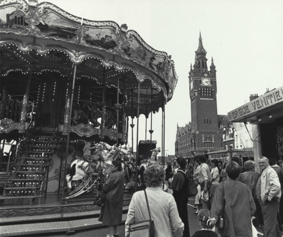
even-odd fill
[{"label": "lowest flat metal step running along the carousel's base", "polygon": [[[127,219],[127,213],[122,216],[122,223]],[[20,224],[1,226],[0,236],[26,236],[31,234],[42,234],[52,232],[72,233],[76,230],[101,227],[102,223],[98,218],[88,218],[73,221],[44,222],[36,224]]]}]

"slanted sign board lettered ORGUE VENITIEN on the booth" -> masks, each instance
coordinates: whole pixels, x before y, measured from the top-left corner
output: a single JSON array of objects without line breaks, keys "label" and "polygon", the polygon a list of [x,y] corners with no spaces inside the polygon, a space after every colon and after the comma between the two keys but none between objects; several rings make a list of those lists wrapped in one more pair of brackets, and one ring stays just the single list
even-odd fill
[{"label": "slanted sign board lettered ORGUE VENITIEN on the booth", "polygon": [[228,113],[229,121],[239,121],[239,118],[252,115],[257,111],[266,109],[280,102],[283,102],[283,86],[259,96],[258,98],[235,110],[230,111]]}]

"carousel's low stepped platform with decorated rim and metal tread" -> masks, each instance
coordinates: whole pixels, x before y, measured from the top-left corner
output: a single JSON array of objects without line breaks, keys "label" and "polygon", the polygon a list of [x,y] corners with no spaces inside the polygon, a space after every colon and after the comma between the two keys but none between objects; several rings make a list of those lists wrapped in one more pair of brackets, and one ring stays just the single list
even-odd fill
[{"label": "carousel's low stepped platform with decorated rim and metal tread", "polygon": [[[124,194],[123,218],[127,218],[132,194]],[[0,207],[0,236],[27,236],[52,232],[70,234],[76,230],[101,227],[101,207],[93,201],[76,199],[64,203],[59,195],[38,198],[34,205],[28,200],[7,200]]]}]

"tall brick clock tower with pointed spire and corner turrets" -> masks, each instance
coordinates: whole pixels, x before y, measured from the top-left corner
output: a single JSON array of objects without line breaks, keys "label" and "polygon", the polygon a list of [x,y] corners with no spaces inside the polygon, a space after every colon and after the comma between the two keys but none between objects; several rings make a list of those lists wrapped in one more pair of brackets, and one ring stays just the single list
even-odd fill
[{"label": "tall brick clock tower with pointed spire and corner turrets", "polygon": [[195,63],[189,72],[191,99],[191,152],[203,155],[221,149],[216,101],[216,70],[207,66],[206,50],[200,33]]}]

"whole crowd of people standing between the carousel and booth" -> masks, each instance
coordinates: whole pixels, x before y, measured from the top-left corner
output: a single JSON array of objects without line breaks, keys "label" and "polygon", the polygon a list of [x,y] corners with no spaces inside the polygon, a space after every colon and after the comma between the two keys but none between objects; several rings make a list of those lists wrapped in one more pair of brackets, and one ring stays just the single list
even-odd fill
[{"label": "whole crowd of people standing between the carousel and booth", "polygon": [[[253,225],[262,229],[264,237],[281,237],[283,224],[283,169],[276,160],[260,157],[259,173],[255,163],[248,160],[244,168],[239,158],[229,162],[195,158],[195,163],[186,165],[184,158],[177,158],[173,167],[150,165],[144,171],[146,196],[151,219],[155,220],[155,237],[190,237],[187,203],[193,179],[197,187],[195,196],[196,218],[200,231],[192,237],[252,237]],[[116,226],[121,223],[123,202],[123,175],[119,161],[112,161],[112,172],[106,179],[103,190],[106,204],[99,220],[109,226],[109,237],[117,237]],[[173,195],[162,190],[164,180],[169,182]],[[219,220],[223,218],[224,227]],[[130,225],[149,219],[143,191],[134,193],[125,223],[126,237]],[[252,221],[255,219],[255,221]]]}]

